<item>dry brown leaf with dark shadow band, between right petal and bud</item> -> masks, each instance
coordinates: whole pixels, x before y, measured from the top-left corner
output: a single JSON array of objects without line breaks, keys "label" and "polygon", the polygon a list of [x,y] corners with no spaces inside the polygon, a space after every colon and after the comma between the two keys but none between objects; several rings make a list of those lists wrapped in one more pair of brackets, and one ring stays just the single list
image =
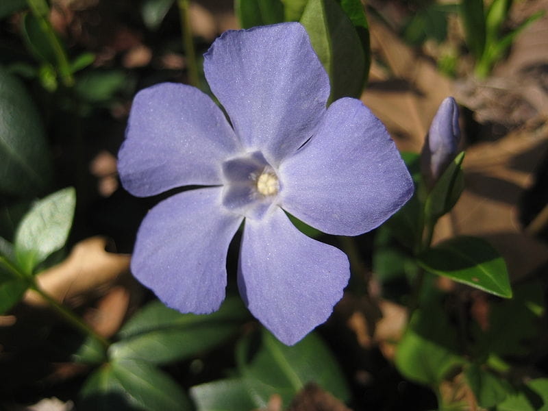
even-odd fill
[{"label": "dry brown leaf with dark shadow band, between right petal and bud", "polygon": [[388,127],[399,149],[419,152],[438,105],[453,94],[451,82],[430,60],[416,55],[388,27],[375,21],[371,21],[371,49],[392,75],[382,75],[373,61],[362,101]]}]

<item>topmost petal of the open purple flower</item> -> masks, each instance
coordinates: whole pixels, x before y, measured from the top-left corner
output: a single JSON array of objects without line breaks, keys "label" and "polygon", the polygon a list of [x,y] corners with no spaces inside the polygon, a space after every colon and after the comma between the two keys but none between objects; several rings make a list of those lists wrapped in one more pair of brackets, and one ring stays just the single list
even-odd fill
[{"label": "topmost petal of the open purple flower", "polygon": [[296,151],[325,112],[329,77],[299,23],[228,31],[203,69],[236,134],[273,166]]}]

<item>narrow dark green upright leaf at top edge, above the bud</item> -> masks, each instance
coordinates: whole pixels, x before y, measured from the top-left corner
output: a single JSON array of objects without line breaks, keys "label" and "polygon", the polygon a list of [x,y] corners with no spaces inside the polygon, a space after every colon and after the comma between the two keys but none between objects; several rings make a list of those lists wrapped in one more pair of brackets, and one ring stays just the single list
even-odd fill
[{"label": "narrow dark green upright leaf at top edge, above the bud", "polygon": [[485,49],[485,17],[483,0],[462,0],[460,13],[464,23],[466,45],[476,60],[482,57]]}]

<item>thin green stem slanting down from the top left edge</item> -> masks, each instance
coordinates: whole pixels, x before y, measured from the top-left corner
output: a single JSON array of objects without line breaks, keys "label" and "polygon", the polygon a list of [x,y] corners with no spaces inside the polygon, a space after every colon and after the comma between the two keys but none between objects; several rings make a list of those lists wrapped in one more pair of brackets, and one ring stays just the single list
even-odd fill
[{"label": "thin green stem slanting down from the top left edge", "polygon": [[29,5],[32,14],[38,19],[42,32],[44,32],[49,44],[55,52],[55,58],[57,59],[58,70],[63,84],[66,87],[74,86],[74,77],[71,70],[71,64],[69,64],[69,58],[66,56],[65,49],[61,45],[61,42],[49,21],[49,5],[46,0],[27,0],[27,4]]}]

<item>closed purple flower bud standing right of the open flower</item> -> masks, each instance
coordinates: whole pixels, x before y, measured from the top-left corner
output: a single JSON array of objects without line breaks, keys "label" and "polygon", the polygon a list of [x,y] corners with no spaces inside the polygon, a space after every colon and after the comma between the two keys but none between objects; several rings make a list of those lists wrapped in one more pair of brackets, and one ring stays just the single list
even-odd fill
[{"label": "closed purple flower bud standing right of the open flower", "polygon": [[455,158],[460,140],[458,105],[453,97],[440,104],[426,136],[421,166],[428,184],[434,184]]}]

